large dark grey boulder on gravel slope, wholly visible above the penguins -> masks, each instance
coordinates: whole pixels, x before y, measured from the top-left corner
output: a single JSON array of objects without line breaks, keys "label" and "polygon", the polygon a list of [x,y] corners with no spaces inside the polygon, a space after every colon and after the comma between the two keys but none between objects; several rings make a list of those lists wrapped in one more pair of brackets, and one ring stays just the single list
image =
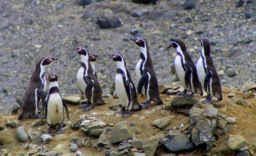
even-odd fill
[{"label": "large dark grey boulder on gravel slope, wholly visible above the penguins", "polygon": [[117,28],[122,25],[119,18],[110,9],[103,10],[100,16],[97,17],[96,23],[102,29]]}]

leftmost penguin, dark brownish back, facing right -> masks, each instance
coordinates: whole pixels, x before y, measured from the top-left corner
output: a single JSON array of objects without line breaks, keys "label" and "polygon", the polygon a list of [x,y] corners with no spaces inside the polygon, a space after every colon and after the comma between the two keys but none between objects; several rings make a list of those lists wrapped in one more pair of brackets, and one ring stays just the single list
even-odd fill
[{"label": "leftmost penguin, dark brownish back, facing right", "polygon": [[[58,58],[48,56],[42,57],[36,63],[35,72],[31,75],[23,96],[19,120],[27,116],[28,118],[38,118],[39,102],[42,101],[42,105],[46,102],[45,66],[50,65],[50,62],[54,60],[58,60]],[[43,106],[41,107],[41,118],[43,118]]]}]

